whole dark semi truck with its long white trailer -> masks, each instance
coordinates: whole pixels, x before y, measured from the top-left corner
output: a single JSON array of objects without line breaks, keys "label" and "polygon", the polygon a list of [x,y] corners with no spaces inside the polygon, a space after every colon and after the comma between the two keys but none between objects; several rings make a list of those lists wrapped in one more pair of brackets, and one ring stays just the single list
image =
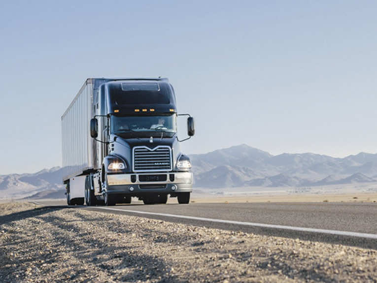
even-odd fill
[{"label": "whole dark semi truck with its long white trailer", "polygon": [[[182,140],[178,116],[187,116]],[[167,78],[85,80],[62,116],[67,204],[189,203],[193,174],[180,142],[194,133]]]}]

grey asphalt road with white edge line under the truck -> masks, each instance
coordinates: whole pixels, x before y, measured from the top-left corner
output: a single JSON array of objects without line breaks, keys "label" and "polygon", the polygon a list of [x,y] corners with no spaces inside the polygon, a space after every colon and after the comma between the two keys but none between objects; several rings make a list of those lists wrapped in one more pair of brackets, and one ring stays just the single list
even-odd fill
[{"label": "grey asphalt road with white edge line under the truck", "polygon": [[76,208],[377,250],[374,203],[190,203]]}]

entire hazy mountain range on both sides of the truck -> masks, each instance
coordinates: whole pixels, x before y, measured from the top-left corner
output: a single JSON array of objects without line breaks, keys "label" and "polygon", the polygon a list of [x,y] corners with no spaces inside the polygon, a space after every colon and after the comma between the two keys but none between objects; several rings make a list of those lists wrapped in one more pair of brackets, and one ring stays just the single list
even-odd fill
[{"label": "entire hazy mountain range on both sides of the truck", "polygon": [[[312,187],[377,182],[377,154],[335,158],[311,153],[281,154],[242,144],[191,155],[197,188]],[[0,175],[0,198],[64,198],[68,168]]]}]

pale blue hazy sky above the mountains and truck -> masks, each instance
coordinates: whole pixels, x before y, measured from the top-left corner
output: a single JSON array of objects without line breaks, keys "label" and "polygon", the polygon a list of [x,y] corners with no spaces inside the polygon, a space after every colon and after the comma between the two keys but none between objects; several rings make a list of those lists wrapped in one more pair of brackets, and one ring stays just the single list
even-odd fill
[{"label": "pale blue hazy sky above the mountains and truck", "polygon": [[[377,1],[0,1],[0,175],[61,165],[88,77],[169,77],[186,153],[377,152]],[[184,129],[185,130],[185,129]]]}]

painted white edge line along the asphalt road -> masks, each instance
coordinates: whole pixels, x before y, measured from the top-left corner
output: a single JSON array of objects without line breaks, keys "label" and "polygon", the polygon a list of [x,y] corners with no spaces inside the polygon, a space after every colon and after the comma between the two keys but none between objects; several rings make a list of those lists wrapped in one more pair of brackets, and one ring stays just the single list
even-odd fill
[{"label": "painted white edge line along the asphalt road", "polygon": [[[38,205],[43,205],[37,202],[34,202],[34,203]],[[86,207],[86,206],[73,206],[73,207]],[[101,206],[97,206],[95,208],[103,209],[103,210],[110,210],[110,211],[121,211],[121,212],[143,214],[143,215],[155,215],[155,216],[173,217],[173,218],[180,218],[180,219],[200,220],[200,221],[207,221],[207,222],[218,222],[218,223],[254,226],[254,227],[262,227],[262,228],[285,229],[285,230],[292,230],[292,231],[322,233],[322,234],[339,235],[339,236],[351,236],[351,237],[368,238],[368,239],[377,240],[377,234],[328,230],[328,229],[316,229],[316,228],[306,228],[306,227],[295,227],[295,226],[285,226],[285,225],[275,225],[275,224],[264,224],[264,223],[255,223],[255,222],[242,222],[242,221],[235,221],[235,220],[223,220],[223,219],[213,219],[213,218],[204,218],[204,217],[177,215],[177,214],[136,211],[136,210],[127,210],[127,209],[119,209],[119,208],[101,207]]]}]

